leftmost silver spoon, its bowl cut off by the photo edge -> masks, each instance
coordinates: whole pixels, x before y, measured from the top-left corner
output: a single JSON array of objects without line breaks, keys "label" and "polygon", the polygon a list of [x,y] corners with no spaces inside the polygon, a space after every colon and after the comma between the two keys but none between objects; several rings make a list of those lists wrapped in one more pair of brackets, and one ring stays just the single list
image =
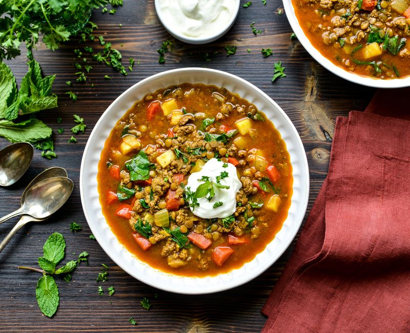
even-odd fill
[{"label": "leftmost silver spoon, its bowl cut off by the photo edge", "polygon": [[10,186],[20,179],[30,166],[34,149],[30,143],[18,142],[0,151],[0,186]]}]

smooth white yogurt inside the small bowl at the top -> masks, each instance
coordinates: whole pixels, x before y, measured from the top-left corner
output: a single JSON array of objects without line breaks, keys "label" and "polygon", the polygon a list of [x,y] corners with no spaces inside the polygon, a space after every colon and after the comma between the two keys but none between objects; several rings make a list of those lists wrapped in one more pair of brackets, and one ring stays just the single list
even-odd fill
[{"label": "smooth white yogurt inside the small bowl at the top", "polygon": [[235,3],[235,0],[160,0],[159,10],[172,30],[203,38],[226,27]]}]

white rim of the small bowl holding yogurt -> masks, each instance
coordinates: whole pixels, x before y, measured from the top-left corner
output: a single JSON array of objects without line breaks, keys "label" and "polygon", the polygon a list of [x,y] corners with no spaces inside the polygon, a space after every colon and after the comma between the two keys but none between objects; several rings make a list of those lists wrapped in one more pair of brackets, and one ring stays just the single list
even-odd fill
[{"label": "white rim of the small bowl holding yogurt", "polygon": [[210,35],[205,38],[201,37],[189,37],[186,35],[181,34],[179,31],[173,29],[169,24],[168,24],[168,19],[163,15],[161,12],[161,9],[159,7],[159,0],[155,0],[155,11],[157,12],[158,18],[161,21],[163,27],[176,39],[179,39],[183,41],[184,43],[188,44],[207,44],[211,43],[211,41],[214,41],[220,37],[222,37],[224,34],[228,32],[229,29],[233,26],[235,23],[236,17],[238,16],[239,12],[239,6],[240,6],[240,0],[233,0],[232,1],[232,6],[233,6],[233,13],[230,18],[230,20],[227,22],[226,26],[220,27],[220,30],[216,32],[214,35]]}]

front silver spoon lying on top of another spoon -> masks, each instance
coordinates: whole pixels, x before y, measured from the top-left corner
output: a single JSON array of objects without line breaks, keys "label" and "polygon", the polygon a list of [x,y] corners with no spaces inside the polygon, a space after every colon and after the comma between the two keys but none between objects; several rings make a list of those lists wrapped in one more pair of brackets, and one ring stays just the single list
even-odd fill
[{"label": "front silver spoon lying on top of another spoon", "polygon": [[0,219],[0,224],[17,215],[31,215],[44,219],[55,213],[70,197],[73,181],[66,177],[42,180],[27,191],[24,204],[15,212]]}]

